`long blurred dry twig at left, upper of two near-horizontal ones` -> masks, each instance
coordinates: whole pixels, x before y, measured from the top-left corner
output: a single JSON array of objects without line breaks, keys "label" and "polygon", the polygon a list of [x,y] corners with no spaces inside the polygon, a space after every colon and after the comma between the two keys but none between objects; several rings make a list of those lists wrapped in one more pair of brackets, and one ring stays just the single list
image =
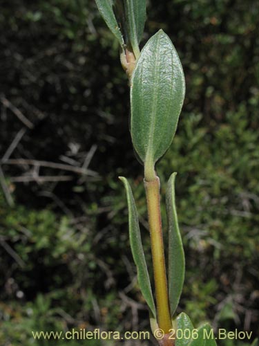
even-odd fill
[{"label": "long blurred dry twig at left, upper of two near-horizontal ones", "polygon": [[66,170],[70,172],[74,172],[77,174],[86,174],[89,176],[98,176],[97,172],[94,172],[93,170],[86,170],[81,167],[75,167],[70,165],[64,165],[63,163],[55,163],[50,161],[38,161],[38,160],[31,160],[27,158],[10,158],[9,160],[3,161],[0,160],[0,165],[34,165],[34,166],[42,166],[42,167],[49,167],[56,170]]}]

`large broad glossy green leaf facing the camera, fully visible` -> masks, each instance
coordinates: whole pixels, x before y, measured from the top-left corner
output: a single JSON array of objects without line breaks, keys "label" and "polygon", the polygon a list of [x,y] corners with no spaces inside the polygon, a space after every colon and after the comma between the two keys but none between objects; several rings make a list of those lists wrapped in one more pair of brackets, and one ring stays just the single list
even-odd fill
[{"label": "large broad glossy green leaf facing the camera, fully visible", "polygon": [[180,59],[164,31],[144,46],[131,83],[133,145],[153,167],[173,140],[185,93]]}]

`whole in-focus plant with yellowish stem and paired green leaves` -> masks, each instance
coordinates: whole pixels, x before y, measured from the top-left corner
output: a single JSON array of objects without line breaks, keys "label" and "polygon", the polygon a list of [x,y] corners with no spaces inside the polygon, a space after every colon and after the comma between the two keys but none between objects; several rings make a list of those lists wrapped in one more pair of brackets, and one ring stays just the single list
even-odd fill
[{"label": "whole in-focus plant with yellowish stem and paired green leaves", "polygon": [[151,235],[155,299],[142,247],[140,226],[131,187],[124,183],[128,201],[129,237],[137,280],[148,304],[151,329],[161,346],[215,346],[208,324],[193,327],[186,313],[175,316],[184,284],[184,250],[175,208],[175,176],[166,190],[169,251],[165,261],[160,213],[160,179],[155,163],[173,141],[184,102],[182,64],[171,39],[159,30],[140,51],[146,20],[145,0],[95,0],[99,12],[120,45],[120,61],[131,93],[131,138],[144,166],[144,187]]}]

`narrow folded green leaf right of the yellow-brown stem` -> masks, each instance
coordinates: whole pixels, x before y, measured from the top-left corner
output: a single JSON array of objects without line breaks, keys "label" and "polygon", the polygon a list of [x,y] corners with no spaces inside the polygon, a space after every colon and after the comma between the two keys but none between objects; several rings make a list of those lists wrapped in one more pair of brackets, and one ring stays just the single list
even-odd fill
[{"label": "narrow folded green leaf right of the yellow-brown stem", "polygon": [[184,248],[178,226],[178,215],[175,206],[175,176],[171,174],[166,190],[166,212],[169,228],[169,302],[171,316],[175,313],[184,284]]}]

